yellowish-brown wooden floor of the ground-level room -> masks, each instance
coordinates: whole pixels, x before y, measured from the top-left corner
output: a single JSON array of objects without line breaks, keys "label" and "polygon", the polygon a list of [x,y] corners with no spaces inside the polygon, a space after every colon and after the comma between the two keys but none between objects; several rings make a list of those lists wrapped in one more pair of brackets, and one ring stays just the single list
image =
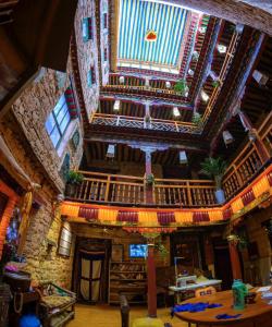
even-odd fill
[{"label": "yellowish-brown wooden floor of the ground-level room", "polygon": [[[145,317],[147,308],[132,307],[131,323],[135,318]],[[173,327],[187,327],[186,323],[177,318],[171,318],[170,308],[159,308],[158,316],[163,323],[171,323]],[[77,304],[75,307],[75,319],[67,324],[67,327],[121,327],[120,310],[110,305],[84,305]]]}]

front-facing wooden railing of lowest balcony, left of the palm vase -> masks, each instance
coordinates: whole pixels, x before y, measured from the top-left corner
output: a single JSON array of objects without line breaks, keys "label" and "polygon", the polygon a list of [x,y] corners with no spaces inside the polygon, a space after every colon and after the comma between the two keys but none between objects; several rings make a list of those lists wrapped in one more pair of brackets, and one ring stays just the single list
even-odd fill
[{"label": "front-facing wooden railing of lowest balcony, left of the palm vase", "polygon": [[[85,203],[146,205],[144,178],[86,172],[84,181],[71,199]],[[214,183],[203,180],[157,179],[153,202],[160,206],[213,206]]]}]

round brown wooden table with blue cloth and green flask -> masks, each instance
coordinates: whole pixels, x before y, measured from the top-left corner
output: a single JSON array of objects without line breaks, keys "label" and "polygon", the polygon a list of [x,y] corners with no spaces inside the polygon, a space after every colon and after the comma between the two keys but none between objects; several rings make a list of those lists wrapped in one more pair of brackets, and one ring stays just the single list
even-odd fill
[{"label": "round brown wooden table with blue cloth and green flask", "polygon": [[[272,305],[269,305],[261,299],[261,293],[257,293],[256,303],[247,304],[243,311],[232,308],[233,294],[232,291],[218,292],[213,295],[201,298],[193,298],[183,303],[210,302],[220,303],[223,306],[215,308],[207,308],[202,312],[175,313],[175,316],[182,320],[197,324],[198,327],[214,327],[214,326],[239,326],[239,327],[272,327]],[[217,319],[219,314],[242,315],[236,319]]]}]

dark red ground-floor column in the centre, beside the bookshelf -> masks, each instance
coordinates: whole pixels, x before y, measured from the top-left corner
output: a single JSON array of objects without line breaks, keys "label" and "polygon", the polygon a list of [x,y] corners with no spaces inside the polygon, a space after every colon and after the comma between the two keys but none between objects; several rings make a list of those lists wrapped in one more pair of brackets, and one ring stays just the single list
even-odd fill
[{"label": "dark red ground-floor column in the centre, beside the bookshelf", "polygon": [[156,286],[156,267],[154,267],[154,244],[148,244],[147,257],[147,287],[148,287],[148,316],[157,317],[157,286]]}]

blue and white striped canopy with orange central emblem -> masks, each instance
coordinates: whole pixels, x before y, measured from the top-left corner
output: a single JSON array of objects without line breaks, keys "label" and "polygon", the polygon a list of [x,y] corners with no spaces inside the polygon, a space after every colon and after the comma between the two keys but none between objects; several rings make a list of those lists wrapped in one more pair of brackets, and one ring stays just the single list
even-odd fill
[{"label": "blue and white striped canopy with orange central emblem", "polygon": [[190,12],[145,0],[120,0],[118,65],[178,73]]}]

